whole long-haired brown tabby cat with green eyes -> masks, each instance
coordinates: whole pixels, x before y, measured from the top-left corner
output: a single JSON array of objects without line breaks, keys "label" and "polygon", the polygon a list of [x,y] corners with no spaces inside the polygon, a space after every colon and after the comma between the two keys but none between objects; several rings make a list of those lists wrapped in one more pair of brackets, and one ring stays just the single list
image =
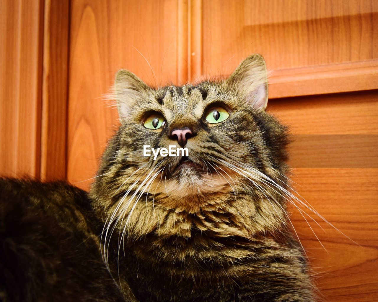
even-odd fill
[{"label": "whole long-haired brown tabby cat with green eyes", "polygon": [[263,58],[157,89],[121,70],[114,88],[121,126],[88,194],[1,181],[3,300],[314,301]]}]

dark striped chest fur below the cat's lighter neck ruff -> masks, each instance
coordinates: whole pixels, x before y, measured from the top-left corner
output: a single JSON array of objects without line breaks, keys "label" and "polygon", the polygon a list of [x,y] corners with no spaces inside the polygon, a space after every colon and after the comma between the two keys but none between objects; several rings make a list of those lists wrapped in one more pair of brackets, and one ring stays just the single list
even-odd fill
[{"label": "dark striped chest fur below the cat's lighter neck ruff", "polygon": [[[279,282],[277,272],[287,264],[301,271],[300,254],[289,248],[263,237],[209,239],[198,233],[190,239],[163,240],[150,236],[125,243],[124,251],[121,246],[119,273],[141,301],[245,300]],[[263,295],[274,297],[273,292]]]}]

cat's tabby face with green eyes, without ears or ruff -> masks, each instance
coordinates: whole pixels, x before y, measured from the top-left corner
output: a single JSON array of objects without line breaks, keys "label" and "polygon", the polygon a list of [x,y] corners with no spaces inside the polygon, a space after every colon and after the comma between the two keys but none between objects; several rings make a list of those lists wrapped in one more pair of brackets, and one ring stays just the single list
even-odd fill
[{"label": "cat's tabby face with green eyes, without ears or ruff", "polygon": [[[122,141],[127,142],[122,148],[140,166],[148,163],[154,174],[161,171],[171,198],[212,193],[231,182],[224,164],[216,159],[234,165],[248,160],[256,165],[257,157],[251,156],[259,133],[253,117],[256,108],[222,85],[169,86],[147,89],[143,95],[122,121]],[[145,157],[146,145],[155,150],[187,148],[188,156],[159,154],[155,158],[150,151],[151,156]],[[232,171],[228,174],[233,174],[234,181],[239,178]],[[156,179],[161,181],[161,177]]]}]

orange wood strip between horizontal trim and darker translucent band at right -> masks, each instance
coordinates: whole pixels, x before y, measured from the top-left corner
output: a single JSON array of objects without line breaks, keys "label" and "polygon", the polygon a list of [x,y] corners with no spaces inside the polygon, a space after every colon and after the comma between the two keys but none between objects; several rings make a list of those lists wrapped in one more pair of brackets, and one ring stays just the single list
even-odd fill
[{"label": "orange wood strip between horizontal trim and darker translucent band at right", "polygon": [[274,99],[268,112],[292,134],[378,134],[377,91]]}]

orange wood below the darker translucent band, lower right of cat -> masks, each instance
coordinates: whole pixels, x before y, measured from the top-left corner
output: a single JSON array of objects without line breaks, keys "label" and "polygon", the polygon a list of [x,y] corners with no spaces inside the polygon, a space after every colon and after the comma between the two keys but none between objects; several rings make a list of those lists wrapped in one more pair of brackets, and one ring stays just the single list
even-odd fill
[{"label": "orange wood below the darker translucent band, lower right of cat", "polygon": [[[299,194],[336,231],[311,213],[324,231],[293,209],[292,221],[310,258],[315,284],[324,301],[375,302],[378,296],[377,168],[300,168],[293,180]],[[354,242],[352,241],[354,240]],[[355,243],[356,242],[356,243]]]}]

